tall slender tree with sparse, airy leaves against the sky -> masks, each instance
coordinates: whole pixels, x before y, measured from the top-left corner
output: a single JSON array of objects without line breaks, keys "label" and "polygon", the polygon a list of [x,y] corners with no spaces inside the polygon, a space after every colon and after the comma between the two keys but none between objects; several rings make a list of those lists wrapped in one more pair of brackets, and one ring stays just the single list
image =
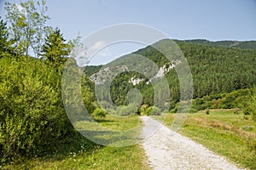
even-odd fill
[{"label": "tall slender tree with sparse, airy leaves against the sky", "polygon": [[15,54],[18,56],[39,53],[44,42],[44,37],[49,31],[45,26],[49,16],[46,15],[47,7],[45,0],[28,0],[20,4],[5,3],[7,10],[6,19],[9,22],[10,36],[15,39]]}]

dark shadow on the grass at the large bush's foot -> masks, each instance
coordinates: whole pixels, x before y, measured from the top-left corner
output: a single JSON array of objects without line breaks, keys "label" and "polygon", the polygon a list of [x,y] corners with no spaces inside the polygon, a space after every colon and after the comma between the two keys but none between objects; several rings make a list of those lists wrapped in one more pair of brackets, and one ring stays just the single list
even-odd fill
[{"label": "dark shadow on the grass at the large bush's foot", "polygon": [[44,152],[40,155],[19,156],[13,161],[3,163],[2,166],[3,169],[32,169],[37,167],[34,162],[40,162],[41,165],[44,165],[47,162],[67,160],[73,155],[90,156],[103,148],[104,146],[85,139],[79,132],[74,132],[67,138],[45,147]]}]

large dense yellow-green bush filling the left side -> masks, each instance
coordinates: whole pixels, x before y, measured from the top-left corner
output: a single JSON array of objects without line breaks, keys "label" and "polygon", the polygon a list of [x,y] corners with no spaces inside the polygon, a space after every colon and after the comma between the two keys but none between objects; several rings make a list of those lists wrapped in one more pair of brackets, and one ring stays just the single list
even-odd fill
[{"label": "large dense yellow-green bush filling the left side", "polygon": [[44,60],[0,59],[1,162],[43,154],[74,132],[60,85],[61,74]]}]

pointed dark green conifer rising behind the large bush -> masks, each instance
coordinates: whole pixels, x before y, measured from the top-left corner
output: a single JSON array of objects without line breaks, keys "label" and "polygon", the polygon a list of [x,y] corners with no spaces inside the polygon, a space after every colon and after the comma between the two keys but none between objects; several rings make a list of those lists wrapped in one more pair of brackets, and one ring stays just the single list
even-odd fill
[{"label": "pointed dark green conifer rising behind the large bush", "polygon": [[66,43],[60,29],[55,28],[55,30],[50,31],[49,35],[45,38],[41,55],[44,59],[49,60],[50,63],[60,65],[64,62],[64,57],[70,54],[70,50],[71,46]]}]

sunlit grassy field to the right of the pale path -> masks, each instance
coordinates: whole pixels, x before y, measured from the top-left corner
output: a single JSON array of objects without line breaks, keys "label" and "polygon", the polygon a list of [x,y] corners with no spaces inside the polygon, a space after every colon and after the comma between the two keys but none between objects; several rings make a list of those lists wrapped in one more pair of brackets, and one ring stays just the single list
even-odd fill
[{"label": "sunlit grassy field to the right of the pale path", "polygon": [[[171,127],[174,116],[166,116],[167,127]],[[256,169],[256,122],[250,116],[234,114],[232,110],[212,110],[209,115],[200,111],[189,114],[178,133],[241,167]]]}]

